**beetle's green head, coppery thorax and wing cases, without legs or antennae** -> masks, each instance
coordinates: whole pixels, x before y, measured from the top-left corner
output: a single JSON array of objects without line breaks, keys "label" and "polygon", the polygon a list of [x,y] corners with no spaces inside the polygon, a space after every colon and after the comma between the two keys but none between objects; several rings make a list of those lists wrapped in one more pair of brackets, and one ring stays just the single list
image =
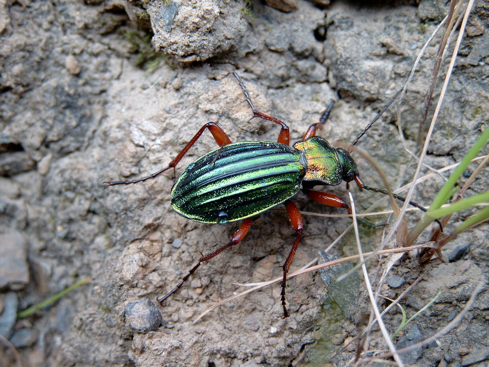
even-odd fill
[{"label": "beetle's green head, coppery thorax and wing cases, without legs or antennae", "polygon": [[173,186],[172,206],[198,222],[234,222],[285,202],[309,183],[337,185],[355,174],[348,152],[320,137],[292,147],[271,141],[232,143],[185,169]]}]

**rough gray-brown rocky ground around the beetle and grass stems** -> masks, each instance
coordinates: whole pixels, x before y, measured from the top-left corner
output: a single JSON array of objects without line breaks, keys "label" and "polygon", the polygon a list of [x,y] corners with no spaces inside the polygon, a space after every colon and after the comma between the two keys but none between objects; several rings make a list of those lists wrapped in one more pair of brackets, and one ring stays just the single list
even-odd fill
[{"label": "rough gray-brown rocky ground around the beetle and grass stems", "polygon": [[[370,306],[360,272],[341,286],[334,280],[348,266],[290,279],[288,319],[280,318],[280,286],[274,284],[195,322],[208,307],[243,290],[234,283],[280,276],[295,238],[285,212],[268,211],[253,220],[239,246],[200,266],[160,306],[156,297],[179,282],[200,252],[226,243],[237,225],[179,217],[170,206],[172,172],[103,189],[104,181],[132,180],[165,167],[209,121],[233,141],[276,140],[276,125],[250,120],[243,91],[229,75],[233,71],[258,109],[289,124],[293,141],[335,100],[319,135],[350,143],[404,86],[449,6],[431,0],[270,2],[275,7],[236,0],[0,0],[1,366],[344,366],[354,358],[358,341],[349,342],[363,330]],[[475,1],[428,146],[429,167],[460,162],[488,128],[488,11],[487,2]],[[399,99],[401,119],[396,102],[358,143],[394,188],[411,180],[417,164],[407,150],[416,151],[440,38],[441,32],[429,43]],[[455,38],[442,62],[434,103]],[[428,116],[432,113],[433,107]],[[205,132],[177,174],[215,147]],[[372,166],[355,157],[363,181],[383,187]],[[413,200],[429,205],[447,176],[423,182]],[[487,190],[487,180],[486,167],[469,194]],[[325,190],[348,198],[344,185]],[[353,185],[350,191],[358,211],[379,199]],[[302,194],[294,201],[303,211],[344,214]],[[457,213],[445,231],[470,213]],[[351,223],[304,218],[292,271],[314,260]],[[408,214],[408,227],[418,218]],[[387,216],[371,220],[394,222]],[[456,237],[443,249],[443,261],[420,265],[411,252],[396,261],[368,262],[374,288],[391,299],[422,275],[400,301],[407,317],[441,291],[394,338],[398,346],[441,330],[483,284],[457,327],[405,354],[406,364],[487,365],[488,228],[486,222]],[[364,250],[370,251],[389,227],[360,230]],[[416,244],[427,238],[423,234]],[[330,253],[356,254],[353,233]],[[390,271],[380,284],[385,269]],[[58,301],[17,318],[18,311],[86,277],[88,282]],[[378,300],[380,309],[389,303]],[[400,308],[392,308],[384,322],[393,334]],[[365,347],[387,349],[377,325]]]}]

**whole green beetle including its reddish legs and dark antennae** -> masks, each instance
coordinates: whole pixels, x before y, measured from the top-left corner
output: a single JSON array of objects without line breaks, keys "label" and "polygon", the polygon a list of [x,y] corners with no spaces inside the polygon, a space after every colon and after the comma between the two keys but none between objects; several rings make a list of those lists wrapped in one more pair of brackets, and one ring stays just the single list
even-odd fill
[{"label": "whole green beetle including its reddish legs and dark antennae", "polygon": [[[159,174],[177,166],[178,162],[207,129],[216,140],[219,148],[205,154],[191,163],[174,183],[171,190],[171,205],[175,211],[186,218],[201,223],[228,223],[243,220],[230,241],[219,249],[200,257],[199,262],[185,275],[178,285],[167,295],[157,298],[160,304],[173,295],[182,284],[206,261],[243,240],[251,227],[251,219],[267,209],[284,204],[289,221],[295,230],[296,238],[285,260],[282,270],[281,304],[283,318],[289,317],[286,306],[286,279],[290,264],[304,228],[299,208],[291,198],[303,191],[309,198],[327,206],[341,207],[352,214],[350,206],[339,196],[313,190],[316,185],[335,186],[345,181],[355,181],[360,189],[367,189],[387,195],[387,192],[363,184],[358,174],[351,151],[334,148],[321,137],[316,136],[317,128],[323,125],[333,108],[332,101],[321,115],[319,122],[311,124],[301,140],[289,144],[289,127],[281,120],[258,111],[251,102],[249,93],[240,76],[234,72],[246,101],[253,111],[253,117],[280,125],[276,142],[244,141],[231,142],[226,133],[214,122],[204,124],[195,136],[185,145],[177,157],[167,167],[133,181],[104,182],[105,188],[119,184],[135,184],[155,178]],[[352,143],[356,144],[378,117],[390,106],[396,95],[378,113],[374,120],[358,135]],[[404,198],[395,195],[397,199]],[[422,210],[422,206],[409,202]]]}]

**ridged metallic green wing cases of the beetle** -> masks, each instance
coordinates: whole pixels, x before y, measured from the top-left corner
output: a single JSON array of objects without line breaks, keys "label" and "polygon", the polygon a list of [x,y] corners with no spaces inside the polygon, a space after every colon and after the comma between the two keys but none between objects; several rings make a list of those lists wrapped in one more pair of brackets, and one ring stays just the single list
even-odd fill
[{"label": "ridged metallic green wing cases of the beetle", "polygon": [[301,153],[282,143],[225,145],[185,169],[172,188],[172,206],[178,214],[203,223],[249,218],[300,190],[306,167],[299,160]]}]

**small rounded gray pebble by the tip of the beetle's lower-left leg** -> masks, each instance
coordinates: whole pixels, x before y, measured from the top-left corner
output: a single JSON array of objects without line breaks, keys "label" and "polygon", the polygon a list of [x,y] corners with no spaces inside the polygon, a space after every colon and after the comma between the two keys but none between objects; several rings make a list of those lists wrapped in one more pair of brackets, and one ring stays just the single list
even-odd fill
[{"label": "small rounded gray pebble by the tip of the beetle's lower-left leg", "polygon": [[128,303],[124,314],[127,325],[139,333],[155,331],[161,325],[161,313],[149,298]]}]

